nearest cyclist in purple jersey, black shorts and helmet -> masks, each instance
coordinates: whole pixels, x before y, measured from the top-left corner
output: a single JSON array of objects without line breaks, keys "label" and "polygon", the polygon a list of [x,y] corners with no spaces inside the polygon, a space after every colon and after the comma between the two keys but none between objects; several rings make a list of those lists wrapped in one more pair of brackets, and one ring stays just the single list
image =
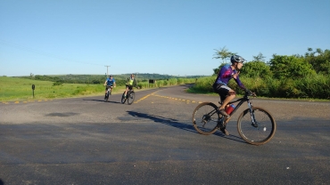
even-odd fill
[{"label": "nearest cyclist in purple jersey, black shorts and helmet", "polygon": [[239,69],[243,67],[243,62],[246,61],[243,57],[239,55],[233,55],[230,58],[231,65],[227,64],[219,70],[217,79],[213,84],[213,90],[216,93],[219,93],[222,105],[219,108],[219,113],[225,117],[228,117],[225,107],[229,101],[232,101],[235,98],[235,91],[227,86],[230,79],[234,78],[236,84],[243,90],[246,90],[245,86],[242,84],[239,79]]}]

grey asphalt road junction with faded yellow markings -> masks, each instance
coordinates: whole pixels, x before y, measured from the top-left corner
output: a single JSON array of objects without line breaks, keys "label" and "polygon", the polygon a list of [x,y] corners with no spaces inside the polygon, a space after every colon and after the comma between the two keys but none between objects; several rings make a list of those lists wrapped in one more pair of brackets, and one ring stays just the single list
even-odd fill
[{"label": "grey asphalt road junction with faded yellow markings", "polygon": [[[0,104],[4,184],[329,184],[330,103],[254,99],[276,118],[267,144],[194,131],[192,112],[217,97],[186,85],[120,94]],[[242,109],[242,108],[241,108]],[[0,181],[0,184],[1,184]]]}]

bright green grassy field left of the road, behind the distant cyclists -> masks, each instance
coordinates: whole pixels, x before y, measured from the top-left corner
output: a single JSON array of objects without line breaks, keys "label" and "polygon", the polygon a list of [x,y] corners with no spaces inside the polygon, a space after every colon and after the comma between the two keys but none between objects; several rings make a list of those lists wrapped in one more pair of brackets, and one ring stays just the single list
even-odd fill
[{"label": "bright green grassy field left of the road, behind the distant cyclists", "polygon": [[[192,78],[173,78],[157,80],[155,84],[138,83],[142,89],[157,88],[167,85],[193,83]],[[35,84],[34,97],[32,84]],[[113,93],[122,93],[125,86],[113,88]],[[0,101],[37,101],[60,98],[75,98],[82,96],[102,96],[103,84],[60,84],[54,82],[24,79],[17,77],[0,76]]]}]

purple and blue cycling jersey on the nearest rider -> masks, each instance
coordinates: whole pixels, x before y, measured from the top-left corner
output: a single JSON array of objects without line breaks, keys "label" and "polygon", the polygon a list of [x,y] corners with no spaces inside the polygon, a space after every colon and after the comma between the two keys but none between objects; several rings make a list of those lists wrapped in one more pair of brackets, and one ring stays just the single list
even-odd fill
[{"label": "purple and blue cycling jersey on the nearest rider", "polygon": [[[215,81],[215,84],[228,84],[229,80],[233,78],[233,75],[237,73],[237,70],[233,70],[229,64],[223,66],[219,70],[219,74],[217,76],[217,79]],[[235,78],[234,78],[235,79]],[[241,80],[237,76],[235,79],[235,82],[238,84],[238,86],[242,89],[246,89],[245,86],[242,84]]]}]

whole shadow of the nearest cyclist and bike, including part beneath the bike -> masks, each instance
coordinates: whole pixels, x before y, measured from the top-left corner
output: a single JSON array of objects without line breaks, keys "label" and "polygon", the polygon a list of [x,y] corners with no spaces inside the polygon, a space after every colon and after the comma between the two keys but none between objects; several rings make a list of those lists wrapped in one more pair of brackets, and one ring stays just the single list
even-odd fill
[{"label": "whole shadow of the nearest cyclist and bike, including part beneath the bike", "polygon": [[[161,123],[161,124],[164,124],[164,125],[173,126],[173,127],[178,128],[178,129],[188,131],[188,132],[191,132],[191,133],[198,133],[194,129],[193,125],[179,123],[179,122],[177,122],[178,121],[177,119],[171,119],[171,118],[167,118],[167,117],[161,117],[161,116],[157,116],[157,115],[150,115],[150,114],[145,114],[145,113],[136,112],[136,111],[129,111],[129,110],[127,112],[128,112],[128,115],[130,115],[132,117],[146,118],[146,119],[153,120],[156,123]],[[238,142],[243,142],[243,143],[248,144],[247,142],[243,141],[242,138],[237,137],[237,136],[232,135],[232,134],[229,134],[227,136],[224,133],[221,133],[220,131],[217,131],[216,133],[213,133],[213,135],[217,135],[219,137],[226,138],[227,140],[238,141]]]}]

